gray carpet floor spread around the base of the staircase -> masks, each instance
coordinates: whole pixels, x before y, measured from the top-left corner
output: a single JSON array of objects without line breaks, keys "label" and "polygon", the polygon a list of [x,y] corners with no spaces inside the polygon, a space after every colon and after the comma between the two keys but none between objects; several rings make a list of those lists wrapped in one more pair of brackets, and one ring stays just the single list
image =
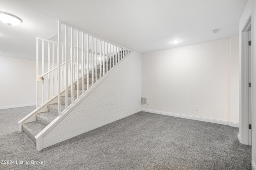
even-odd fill
[{"label": "gray carpet floor spread around the base of the staircase", "polygon": [[[250,170],[238,128],[140,112],[38,152],[18,121],[35,107],[0,110],[1,170]],[[16,161],[44,164],[16,164]],[[22,163],[22,162],[21,162]]]}]

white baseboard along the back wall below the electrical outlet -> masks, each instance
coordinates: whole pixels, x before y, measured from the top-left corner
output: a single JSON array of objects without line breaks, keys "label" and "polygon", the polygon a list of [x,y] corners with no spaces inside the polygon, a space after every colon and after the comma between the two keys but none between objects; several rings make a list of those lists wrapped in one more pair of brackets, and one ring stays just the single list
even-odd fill
[{"label": "white baseboard along the back wall below the electrical outlet", "polygon": [[217,123],[217,124],[221,124],[221,125],[229,125],[232,127],[239,127],[238,123],[233,123],[233,122],[223,121],[223,120],[218,120],[218,119],[210,119],[210,118],[205,118],[205,117],[183,115],[183,114],[178,114],[178,113],[171,113],[171,112],[167,112],[167,111],[158,111],[158,110],[152,110],[152,109],[141,109],[141,111],[156,113],[156,114],[160,114],[160,115],[181,117],[181,118],[185,118],[185,119],[206,121],[206,122]]}]

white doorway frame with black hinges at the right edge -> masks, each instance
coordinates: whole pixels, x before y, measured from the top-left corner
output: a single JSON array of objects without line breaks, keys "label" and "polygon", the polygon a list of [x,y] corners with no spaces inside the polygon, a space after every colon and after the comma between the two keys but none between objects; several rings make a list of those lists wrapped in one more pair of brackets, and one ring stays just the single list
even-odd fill
[{"label": "white doorway frame with black hinges at the right edge", "polygon": [[251,39],[252,39],[252,18],[248,19],[246,25],[241,32],[241,84],[240,84],[240,102],[241,102],[241,117],[239,117],[239,133],[241,136],[240,143],[245,145],[252,145],[252,130],[251,130],[251,80],[252,80],[252,53],[251,53]]}]

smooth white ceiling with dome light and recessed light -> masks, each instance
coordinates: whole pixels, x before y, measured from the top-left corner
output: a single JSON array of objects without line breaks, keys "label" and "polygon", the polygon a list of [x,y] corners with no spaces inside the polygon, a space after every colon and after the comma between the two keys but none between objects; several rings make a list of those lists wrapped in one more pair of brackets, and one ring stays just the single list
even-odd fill
[{"label": "smooth white ceiling with dome light and recessed light", "polygon": [[139,53],[223,39],[238,35],[247,1],[0,0],[0,11],[23,20],[0,22],[0,56],[36,59],[36,37],[54,36],[58,20]]}]

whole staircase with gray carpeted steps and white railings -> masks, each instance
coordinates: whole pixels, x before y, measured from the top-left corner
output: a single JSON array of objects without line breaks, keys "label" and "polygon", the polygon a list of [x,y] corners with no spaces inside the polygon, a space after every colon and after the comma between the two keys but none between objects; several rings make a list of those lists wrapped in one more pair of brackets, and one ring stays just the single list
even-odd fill
[{"label": "whole staircase with gray carpeted steps and white railings", "polygon": [[[63,123],[62,119],[110,76],[132,51],[61,21],[58,41],[37,38],[36,47],[36,109],[18,123],[20,132],[23,131],[40,151],[65,140],[52,139],[50,144],[44,144],[49,134],[56,135],[52,129]],[[76,126],[76,123],[69,125]],[[58,132],[66,133],[67,130],[64,127]]]}]

